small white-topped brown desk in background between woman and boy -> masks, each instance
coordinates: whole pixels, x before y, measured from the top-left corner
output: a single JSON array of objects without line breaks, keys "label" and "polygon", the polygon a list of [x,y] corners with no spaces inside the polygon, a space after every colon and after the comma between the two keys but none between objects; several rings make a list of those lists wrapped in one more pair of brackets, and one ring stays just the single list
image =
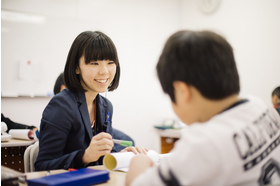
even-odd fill
[{"label": "small white-topped brown desk in background between woman and boy", "polygon": [[161,154],[169,153],[173,147],[174,143],[180,138],[180,129],[156,129],[160,136],[161,141]]}]

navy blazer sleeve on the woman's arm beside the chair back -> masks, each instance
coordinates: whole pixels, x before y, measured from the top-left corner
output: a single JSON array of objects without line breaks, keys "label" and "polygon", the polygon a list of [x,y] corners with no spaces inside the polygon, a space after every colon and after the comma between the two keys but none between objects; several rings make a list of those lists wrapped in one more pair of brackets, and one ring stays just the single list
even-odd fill
[{"label": "navy blazer sleeve on the woman's arm beside the chair back", "polygon": [[75,112],[76,104],[70,96],[54,96],[45,108],[40,125],[36,171],[75,168],[75,156],[84,150],[67,153],[65,146],[72,126],[79,117]]}]

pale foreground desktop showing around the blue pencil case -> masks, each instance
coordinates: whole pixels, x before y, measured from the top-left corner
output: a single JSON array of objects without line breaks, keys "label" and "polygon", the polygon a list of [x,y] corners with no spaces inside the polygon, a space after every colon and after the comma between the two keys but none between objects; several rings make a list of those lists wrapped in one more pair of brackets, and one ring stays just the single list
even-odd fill
[{"label": "pale foreground desktop showing around the blue pencil case", "polygon": [[[88,168],[106,170],[103,165],[90,166]],[[62,170],[62,169],[61,170],[50,171],[51,174],[58,174],[58,173],[63,173],[63,172],[67,172],[67,171]],[[43,177],[46,174],[47,174],[47,171],[25,173],[27,179],[34,179],[34,178]],[[126,177],[125,172],[110,171],[109,177],[110,177],[110,179],[107,182],[97,184],[97,185],[99,185],[99,186],[122,186],[122,185],[125,185],[125,177]],[[27,186],[27,184],[20,184],[20,186]]]}]

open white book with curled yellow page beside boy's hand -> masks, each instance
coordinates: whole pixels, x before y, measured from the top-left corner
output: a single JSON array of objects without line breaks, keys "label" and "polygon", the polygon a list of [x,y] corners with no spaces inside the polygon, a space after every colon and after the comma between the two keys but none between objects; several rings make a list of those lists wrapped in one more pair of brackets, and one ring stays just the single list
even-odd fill
[{"label": "open white book with curled yellow page beside boy's hand", "polygon": [[[149,150],[147,156],[149,156],[155,164],[160,163],[162,159],[168,157],[170,153],[158,154],[154,150]],[[128,172],[131,159],[135,156],[133,152],[117,152],[111,153],[104,157],[103,165],[109,171],[117,170]]]}]

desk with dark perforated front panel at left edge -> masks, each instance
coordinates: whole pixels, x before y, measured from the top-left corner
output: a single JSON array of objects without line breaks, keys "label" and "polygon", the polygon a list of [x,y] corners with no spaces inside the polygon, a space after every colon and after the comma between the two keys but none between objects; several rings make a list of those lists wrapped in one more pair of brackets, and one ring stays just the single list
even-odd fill
[{"label": "desk with dark perforated front panel at left edge", "polygon": [[24,172],[23,154],[34,140],[19,140],[11,138],[8,142],[1,142],[1,165],[19,172]]}]

